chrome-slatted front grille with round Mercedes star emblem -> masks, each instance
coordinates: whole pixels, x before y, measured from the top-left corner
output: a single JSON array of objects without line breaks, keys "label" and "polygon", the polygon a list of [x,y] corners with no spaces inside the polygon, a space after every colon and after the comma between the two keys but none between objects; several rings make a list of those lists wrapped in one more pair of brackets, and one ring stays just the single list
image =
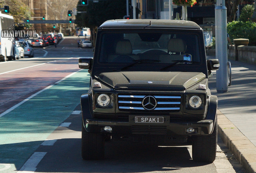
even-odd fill
[{"label": "chrome-slatted front grille with round Mercedes star emblem", "polygon": [[[149,98],[151,101],[149,101]],[[145,100],[146,99],[146,100]],[[143,102],[144,101],[144,102]],[[152,102],[152,103],[150,103]],[[147,105],[147,103],[150,103]],[[179,112],[181,95],[119,94],[118,109],[129,112],[172,113]],[[150,107],[151,106],[151,107]]]}]

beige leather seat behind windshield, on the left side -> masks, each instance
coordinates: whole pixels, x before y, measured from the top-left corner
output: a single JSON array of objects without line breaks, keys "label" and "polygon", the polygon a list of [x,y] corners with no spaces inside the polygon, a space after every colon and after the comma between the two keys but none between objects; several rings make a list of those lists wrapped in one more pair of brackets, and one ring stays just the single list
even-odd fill
[{"label": "beige leather seat behind windshield, on the left side", "polygon": [[120,40],[116,44],[116,53],[108,56],[108,62],[133,62],[139,57],[132,54],[132,44],[130,40]]}]

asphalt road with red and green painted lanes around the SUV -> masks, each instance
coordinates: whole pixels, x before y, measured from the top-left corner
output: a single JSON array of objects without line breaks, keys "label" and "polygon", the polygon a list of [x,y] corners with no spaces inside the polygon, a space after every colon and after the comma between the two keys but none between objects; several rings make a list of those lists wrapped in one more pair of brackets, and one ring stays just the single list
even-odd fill
[{"label": "asphalt road with red and green painted lanes around the SUV", "polygon": [[126,140],[107,142],[105,159],[84,161],[79,99],[89,74],[77,62],[92,56],[65,38],[57,48],[35,48],[35,58],[0,62],[0,173],[244,173],[221,139],[212,164],[194,162],[190,145]]}]

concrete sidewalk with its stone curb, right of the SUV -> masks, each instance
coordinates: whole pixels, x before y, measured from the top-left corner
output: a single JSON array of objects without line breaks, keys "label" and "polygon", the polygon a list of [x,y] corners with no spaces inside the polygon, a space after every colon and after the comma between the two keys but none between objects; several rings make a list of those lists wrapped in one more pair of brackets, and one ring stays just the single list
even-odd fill
[{"label": "concrete sidewalk with its stone curb, right of the SUV", "polygon": [[256,66],[229,61],[232,84],[227,93],[217,92],[216,73],[209,79],[211,93],[219,99],[218,132],[246,171],[256,173]]}]

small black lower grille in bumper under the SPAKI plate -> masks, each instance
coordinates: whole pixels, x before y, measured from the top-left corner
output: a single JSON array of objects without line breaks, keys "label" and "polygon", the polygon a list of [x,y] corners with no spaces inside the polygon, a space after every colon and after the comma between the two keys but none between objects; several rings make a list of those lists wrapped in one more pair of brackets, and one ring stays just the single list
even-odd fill
[{"label": "small black lower grille in bumper under the SPAKI plate", "polygon": [[132,126],[132,134],[140,135],[166,135],[167,127],[166,126]]}]

